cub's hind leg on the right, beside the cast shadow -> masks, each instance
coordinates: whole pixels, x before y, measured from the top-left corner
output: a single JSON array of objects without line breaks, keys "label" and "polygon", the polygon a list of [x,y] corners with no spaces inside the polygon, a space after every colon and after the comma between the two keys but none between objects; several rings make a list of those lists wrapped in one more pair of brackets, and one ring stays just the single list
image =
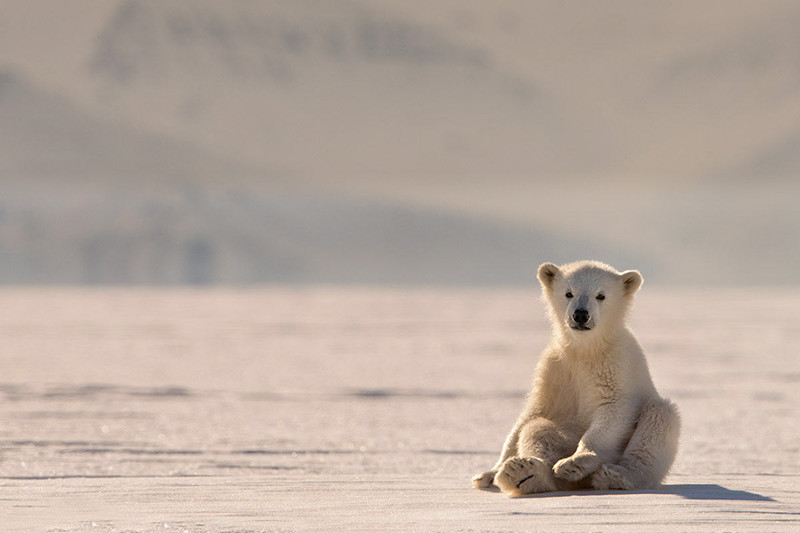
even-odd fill
[{"label": "cub's hind leg on the right, beside the cast shadow", "polygon": [[680,416],[669,400],[646,403],[619,464],[604,464],[592,475],[592,487],[649,489],[667,475],[678,451]]}]

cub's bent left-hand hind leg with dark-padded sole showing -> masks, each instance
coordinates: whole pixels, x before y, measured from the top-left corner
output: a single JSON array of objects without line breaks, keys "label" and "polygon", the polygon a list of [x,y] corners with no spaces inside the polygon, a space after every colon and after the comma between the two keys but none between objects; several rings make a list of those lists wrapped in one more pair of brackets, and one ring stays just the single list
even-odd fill
[{"label": "cub's bent left-hand hind leg with dark-padded sole showing", "polygon": [[550,420],[530,420],[520,431],[518,455],[503,463],[494,484],[509,496],[577,488],[574,483],[556,480],[553,464],[572,453],[578,438],[571,438],[569,432],[559,429]]}]

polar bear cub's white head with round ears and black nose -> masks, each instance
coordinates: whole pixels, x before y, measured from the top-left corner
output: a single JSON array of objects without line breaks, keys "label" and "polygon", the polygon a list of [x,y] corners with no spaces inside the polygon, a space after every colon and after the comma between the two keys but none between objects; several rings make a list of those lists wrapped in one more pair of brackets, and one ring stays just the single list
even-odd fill
[{"label": "polar bear cub's white head with round ears and black nose", "polygon": [[538,278],[553,324],[578,339],[623,327],[633,295],[642,285],[639,272],[617,272],[598,261],[561,267],[544,263]]}]

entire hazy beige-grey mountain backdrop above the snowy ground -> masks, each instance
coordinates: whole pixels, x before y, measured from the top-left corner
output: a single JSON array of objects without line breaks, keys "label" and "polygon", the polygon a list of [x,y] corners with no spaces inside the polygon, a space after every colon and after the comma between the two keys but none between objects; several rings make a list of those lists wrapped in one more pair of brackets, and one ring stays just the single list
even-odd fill
[{"label": "entire hazy beige-grey mountain backdrop above the snowy ground", "polygon": [[0,12],[1,283],[796,283],[797,2]]}]

